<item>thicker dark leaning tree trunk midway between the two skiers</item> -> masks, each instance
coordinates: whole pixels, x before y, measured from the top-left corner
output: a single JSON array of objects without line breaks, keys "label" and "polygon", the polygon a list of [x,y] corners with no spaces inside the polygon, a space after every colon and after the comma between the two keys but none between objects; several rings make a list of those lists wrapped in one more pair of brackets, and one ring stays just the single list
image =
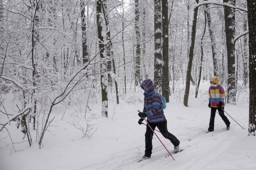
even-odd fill
[{"label": "thicker dark leaning tree trunk midway between the two skiers", "polygon": [[[196,0],[198,4],[199,0]],[[188,106],[188,96],[189,96],[189,88],[190,88],[190,80],[191,80],[191,68],[192,68],[192,61],[194,56],[194,46],[195,46],[195,39],[196,39],[196,21],[197,21],[197,12],[198,7],[194,8],[194,18],[192,21],[192,30],[191,30],[191,45],[189,47],[189,61],[188,61],[188,68],[187,68],[187,76],[186,76],[186,88],[185,88],[185,95],[184,95],[184,105]]]}]

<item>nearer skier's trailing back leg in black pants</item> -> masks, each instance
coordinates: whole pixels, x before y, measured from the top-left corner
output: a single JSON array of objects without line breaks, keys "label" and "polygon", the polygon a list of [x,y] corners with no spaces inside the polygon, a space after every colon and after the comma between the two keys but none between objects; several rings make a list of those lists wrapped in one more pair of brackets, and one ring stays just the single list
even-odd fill
[{"label": "nearer skier's trailing back leg in black pants", "polygon": [[171,141],[171,143],[174,146],[178,146],[180,144],[180,141],[177,139],[176,136],[172,135],[170,132],[167,130],[167,120],[164,120],[162,122],[156,123],[156,127],[159,129],[161,134],[166,138]]}]

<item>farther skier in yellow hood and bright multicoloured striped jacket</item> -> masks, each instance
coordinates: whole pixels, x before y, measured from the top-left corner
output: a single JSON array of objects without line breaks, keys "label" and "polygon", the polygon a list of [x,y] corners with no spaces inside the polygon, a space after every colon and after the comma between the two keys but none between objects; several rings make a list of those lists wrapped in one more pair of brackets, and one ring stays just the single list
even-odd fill
[{"label": "farther skier in yellow hood and bright multicoloured striped jacket", "polygon": [[[225,91],[224,88],[219,84],[219,79],[216,76],[213,76],[210,80],[211,86],[209,87],[209,104],[208,107],[211,108],[211,117],[208,132],[214,130],[214,118],[216,110],[220,114],[221,119],[225,122],[227,130],[230,128],[230,122],[228,118],[224,115],[224,100],[225,100]],[[208,133],[207,132],[207,133]]]}]

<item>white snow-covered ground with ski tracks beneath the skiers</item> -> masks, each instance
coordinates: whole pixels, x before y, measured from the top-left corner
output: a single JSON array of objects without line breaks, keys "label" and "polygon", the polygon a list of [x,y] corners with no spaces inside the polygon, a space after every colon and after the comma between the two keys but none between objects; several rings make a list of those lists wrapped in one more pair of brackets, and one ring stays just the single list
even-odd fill
[{"label": "white snow-covered ground with ski tracks beneath the skiers", "polygon": [[[2,139],[0,141],[0,169],[255,170],[256,137],[247,135],[249,95],[240,94],[236,106],[226,104],[225,107],[225,111],[244,129],[225,113],[231,122],[230,130],[226,131],[224,122],[216,113],[214,132],[206,134],[210,120],[209,86],[210,83],[200,84],[198,98],[194,97],[195,86],[191,87],[189,107],[185,107],[183,99],[175,95],[172,95],[170,103],[167,103],[164,114],[168,130],[180,140],[180,149],[184,149],[182,152],[173,154],[175,161],[171,157],[165,158],[168,153],[154,135],[151,158],[137,163],[145,150],[146,126],[138,124],[137,112],[143,109],[143,92],[141,92],[126,94],[125,99],[121,99],[118,105],[109,101],[108,118],[100,116],[100,102],[94,104],[92,112],[86,115],[87,123],[93,125],[93,130],[96,130],[90,138],[83,137],[82,131],[71,125],[73,121],[80,120],[84,113],[81,113],[77,106],[69,108],[61,120],[65,110],[62,108],[63,105],[54,108],[51,118],[53,116],[55,118],[44,136],[42,149],[39,149],[35,141],[36,134],[33,130],[31,130],[34,133],[31,134],[34,139],[32,146],[29,147],[28,142],[15,144],[16,152],[13,152],[12,144],[9,144],[10,138],[6,137],[6,130],[0,132],[0,139]],[[125,102],[133,95],[138,96],[141,102],[135,104]],[[7,99],[5,102],[8,102]],[[1,115],[0,121],[6,119],[6,116]],[[17,130],[15,122],[11,124],[12,126],[7,126],[7,128],[12,135],[13,142],[20,141],[23,136],[20,129]],[[79,124],[86,128],[83,118]],[[173,151],[172,143],[159,132],[156,134],[164,145]],[[189,141],[188,138],[192,140]]]}]

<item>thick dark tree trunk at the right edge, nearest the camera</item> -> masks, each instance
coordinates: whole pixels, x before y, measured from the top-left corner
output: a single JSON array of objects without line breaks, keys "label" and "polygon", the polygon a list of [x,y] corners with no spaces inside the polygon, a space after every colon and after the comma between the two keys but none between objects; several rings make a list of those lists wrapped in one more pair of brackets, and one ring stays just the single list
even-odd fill
[{"label": "thick dark tree trunk at the right edge, nearest the camera", "polygon": [[256,0],[247,0],[249,27],[249,129],[248,135],[255,136],[256,126]]}]

